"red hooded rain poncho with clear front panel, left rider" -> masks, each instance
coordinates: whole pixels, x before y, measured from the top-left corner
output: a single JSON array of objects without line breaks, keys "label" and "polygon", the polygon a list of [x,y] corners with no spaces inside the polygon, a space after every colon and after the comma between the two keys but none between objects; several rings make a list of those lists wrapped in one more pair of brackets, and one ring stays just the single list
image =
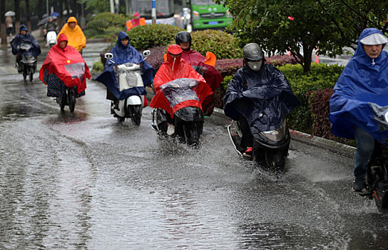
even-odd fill
[{"label": "red hooded rain poncho with clear front panel, left rider", "polygon": [[67,45],[64,49],[59,46],[61,41],[68,41],[65,34],[58,37],[58,44],[48,51],[47,57],[39,71],[39,79],[44,84],[44,71],[55,74],[68,86],[77,86],[78,93],[86,89],[86,79],[91,79],[91,73],[81,54],[72,46]]}]

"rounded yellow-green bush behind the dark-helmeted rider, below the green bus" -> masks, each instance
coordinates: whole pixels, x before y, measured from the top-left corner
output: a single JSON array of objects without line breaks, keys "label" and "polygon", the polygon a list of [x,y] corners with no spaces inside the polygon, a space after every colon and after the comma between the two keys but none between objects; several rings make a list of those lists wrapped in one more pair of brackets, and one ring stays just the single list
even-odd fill
[{"label": "rounded yellow-green bush behind the dark-helmeted rider, below the green bus", "polygon": [[[173,36],[175,38],[175,34]],[[206,29],[191,32],[192,49],[205,55],[213,52],[217,59],[238,59],[242,56],[242,49],[238,46],[238,39],[223,31]],[[175,41],[173,41],[175,43]]]}]

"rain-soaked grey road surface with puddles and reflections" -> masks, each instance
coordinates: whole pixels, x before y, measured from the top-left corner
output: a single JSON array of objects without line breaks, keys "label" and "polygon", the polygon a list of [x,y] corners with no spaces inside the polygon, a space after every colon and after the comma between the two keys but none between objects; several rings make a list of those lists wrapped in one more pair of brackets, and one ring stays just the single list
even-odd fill
[{"label": "rain-soaked grey road surface with puddles and reflections", "polygon": [[[89,66],[104,46],[83,51]],[[158,141],[149,107],[118,124],[96,81],[61,114],[0,51],[0,249],[388,249],[352,159],[292,141],[276,180],[239,159],[223,116],[188,149]]]}]

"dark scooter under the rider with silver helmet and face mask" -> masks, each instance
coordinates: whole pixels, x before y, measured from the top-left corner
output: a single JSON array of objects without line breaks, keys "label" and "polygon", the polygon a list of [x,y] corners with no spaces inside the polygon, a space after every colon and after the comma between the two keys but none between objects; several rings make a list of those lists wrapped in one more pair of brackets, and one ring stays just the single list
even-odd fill
[{"label": "dark scooter under the rider with silver helmet and face mask", "polygon": [[252,156],[246,156],[245,151],[240,146],[242,132],[238,121],[232,121],[228,126],[228,133],[235,150],[242,158],[257,162],[260,166],[272,173],[281,175],[285,168],[285,157],[288,155],[290,147],[290,131],[287,124],[282,121],[281,125],[271,131],[260,131],[253,136]]}]

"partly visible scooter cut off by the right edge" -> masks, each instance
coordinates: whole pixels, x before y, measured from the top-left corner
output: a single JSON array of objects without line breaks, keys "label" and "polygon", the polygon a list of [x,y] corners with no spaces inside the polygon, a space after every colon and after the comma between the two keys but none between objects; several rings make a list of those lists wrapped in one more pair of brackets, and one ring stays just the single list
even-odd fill
[{"label": "partly visible scooter cut off by the right edge", "polygon": [[[374,120],[385,130],[388,129],[388,111],[384,109],[372,109]],[[359,192],[360,196],[374,199],[377,209],[383,214],[388,214],[388,140],[374,141],[374,151],[367,165],[367,178],[365,189]]]}]

